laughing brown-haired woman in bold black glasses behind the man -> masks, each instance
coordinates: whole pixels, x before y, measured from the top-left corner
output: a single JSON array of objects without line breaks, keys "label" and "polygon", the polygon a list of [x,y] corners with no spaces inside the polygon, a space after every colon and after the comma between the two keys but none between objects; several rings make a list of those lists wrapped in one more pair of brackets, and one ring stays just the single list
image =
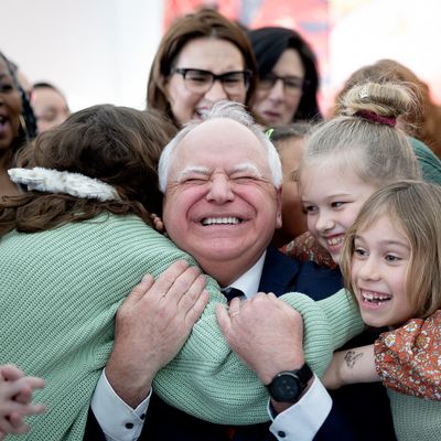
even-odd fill
[{"label": "laughing brown-haired woman in bold black glasses behind the man", "polygon": [[147,104],[182,126],[223,99],[249,104],[256,79],[244,30],[203,9],[178,19],[162,37],[150,71]]}]

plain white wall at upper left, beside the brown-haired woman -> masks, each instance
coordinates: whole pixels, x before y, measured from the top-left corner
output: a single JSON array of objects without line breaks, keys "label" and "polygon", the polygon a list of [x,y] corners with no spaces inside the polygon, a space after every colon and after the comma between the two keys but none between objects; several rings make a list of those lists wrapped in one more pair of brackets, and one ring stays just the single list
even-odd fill
[{"label": "plain white wall at upper left, beside the brown-haired woman", "polygon": [[143,108],[162,32],[162,0],[0,0],[0,50],[73,110],[98,103]]}]

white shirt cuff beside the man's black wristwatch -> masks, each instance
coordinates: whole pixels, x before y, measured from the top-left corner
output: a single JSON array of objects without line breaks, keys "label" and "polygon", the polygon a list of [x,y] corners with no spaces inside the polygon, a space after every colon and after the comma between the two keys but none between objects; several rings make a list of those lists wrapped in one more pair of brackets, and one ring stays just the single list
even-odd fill
[{"label": "white shirt cuff beside the man's black wristwatch", "polygon": [[332,399],[320,379],[314,380],[302,398],[273,418],[269,430],[280,441],[311,441],[322,427],[332,408]]}]

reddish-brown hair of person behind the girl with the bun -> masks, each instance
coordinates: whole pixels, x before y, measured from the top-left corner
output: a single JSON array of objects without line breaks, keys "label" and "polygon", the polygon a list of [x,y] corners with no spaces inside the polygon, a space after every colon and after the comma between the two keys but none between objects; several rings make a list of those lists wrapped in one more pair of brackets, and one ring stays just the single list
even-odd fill
[{"label": "reddish-brown hair of person behind the girl with the bun", "polygon": [[441,110],[430,98],[429,86],[412,71],[395,60],[379,60],[374,64],[355,71],[345,82],[336,96],[334,114],[340,114],[341,98],[355,84],[372,82],[402,82],[413,90],[418,106],[400,119],[406,123],[406,130],[441,158]]}]

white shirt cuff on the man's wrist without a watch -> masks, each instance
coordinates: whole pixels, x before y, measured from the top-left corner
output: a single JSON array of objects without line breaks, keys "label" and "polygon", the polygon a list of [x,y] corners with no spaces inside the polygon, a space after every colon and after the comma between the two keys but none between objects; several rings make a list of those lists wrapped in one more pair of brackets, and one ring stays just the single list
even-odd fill
[{"label": "white shirt cuff on the man's wrist without a watch", "polygon": [[132,409],[119,398],[103,370],[90,407],[107,441],[135,441],[139,438],[151,394],[150,390],[149,396]]}]

